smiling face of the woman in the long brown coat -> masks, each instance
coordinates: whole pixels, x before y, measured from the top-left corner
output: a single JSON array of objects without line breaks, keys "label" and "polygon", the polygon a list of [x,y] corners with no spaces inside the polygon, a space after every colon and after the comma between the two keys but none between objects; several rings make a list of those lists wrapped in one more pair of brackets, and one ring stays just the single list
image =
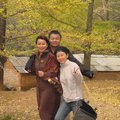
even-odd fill
[{"label": "smiling face of the woman in the long brown coat", "polygon": [[43,53],[48,47],[47,42],[43,39],[38,39],[36,45],[37,45],[39,52],[41,53]]}]

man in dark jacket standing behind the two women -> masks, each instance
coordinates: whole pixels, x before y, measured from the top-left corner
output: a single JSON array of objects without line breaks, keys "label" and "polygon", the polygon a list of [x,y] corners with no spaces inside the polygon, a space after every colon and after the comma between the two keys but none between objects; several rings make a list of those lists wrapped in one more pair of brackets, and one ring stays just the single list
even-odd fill
[{"label": "man in dark jacket standing behind the two women", "polygon": [[[59,31],[57,30],[52,30],[49,35],[49,42],[50,42],[50,48],[51,48],[51,52],[54,53],[55,49],[60,46],[60,42],[61,42],[61,38],[62,35],[60,34]],[[69,53],[69,59],[73,62],[75,62],[81,69],[81,72],[84,76],[88,77],[88,78],[93,78],[94,73],[90,70],[88,70],[85,65],[81,64],[80,61],[78,61],[70,52]]]}]

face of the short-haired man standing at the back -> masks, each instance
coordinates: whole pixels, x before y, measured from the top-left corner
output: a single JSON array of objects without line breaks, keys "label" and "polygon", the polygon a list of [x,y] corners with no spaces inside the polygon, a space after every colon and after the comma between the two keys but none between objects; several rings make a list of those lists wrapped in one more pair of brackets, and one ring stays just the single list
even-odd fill
[{"label": "face of the short-haired man standing at the back", "polygon": [[60,45],[60,35],[59,34],[51,34],[49,38],[50,45],[53,47],[57,47]]}]

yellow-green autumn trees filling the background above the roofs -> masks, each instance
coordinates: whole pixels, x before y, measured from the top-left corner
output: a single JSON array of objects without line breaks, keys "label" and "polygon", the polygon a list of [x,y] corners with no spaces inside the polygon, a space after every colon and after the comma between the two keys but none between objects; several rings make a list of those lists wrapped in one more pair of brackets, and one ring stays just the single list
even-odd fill
[{"label": "yellow-green autumn trees filling the background above the roofs", "polygon": [[0,35],[5,36],[0,41],[5,44],[7,54],[30,55],[35,51],[38,34],[47,35],[58,29],[63,35],[63,45],[73,52],[87,53],[85,64],[89,68],[93,53],[120,53],[119,5],[118,0],[8,0],[0,9],[0,19],[4,18],[6,27],[6,36],[2,35],[5,30],[0,30],[4,31]]}]

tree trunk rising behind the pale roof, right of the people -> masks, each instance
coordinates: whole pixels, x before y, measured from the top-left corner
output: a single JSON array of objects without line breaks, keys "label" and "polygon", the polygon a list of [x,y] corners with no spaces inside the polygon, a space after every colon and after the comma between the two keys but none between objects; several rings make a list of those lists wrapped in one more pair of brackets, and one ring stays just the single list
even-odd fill
[{"label": "tree trunk rising behind the pale roof, right of the people", "polygon": [[[94,8],[94,0],[92,0],[88,6],[88,17],[87,17],[87,28],[86,28],[86,32],[88,33],[88,35],[91,34],[92,32],[93,8]],[[87,47],[90,47],[89,45],[90,44],[88,44]],[[89,70],[90,70],[90,63],[91,63],[91,53],[89,51],[85,51],[84,52],[84,65]]]}]

